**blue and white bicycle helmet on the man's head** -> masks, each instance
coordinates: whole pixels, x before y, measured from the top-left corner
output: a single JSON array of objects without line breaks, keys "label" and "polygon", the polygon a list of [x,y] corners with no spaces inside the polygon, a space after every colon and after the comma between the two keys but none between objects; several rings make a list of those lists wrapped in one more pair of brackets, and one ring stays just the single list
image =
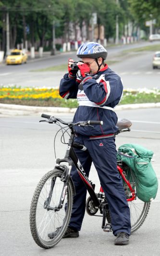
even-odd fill
[{"label": "blue and white bicycle helmet on the man's head", "polygon": [[101,44],[96,42],[83,43],[77,50],[77,57],[95,59],[102,57],[104,60],[107,58],[107,50]]}]

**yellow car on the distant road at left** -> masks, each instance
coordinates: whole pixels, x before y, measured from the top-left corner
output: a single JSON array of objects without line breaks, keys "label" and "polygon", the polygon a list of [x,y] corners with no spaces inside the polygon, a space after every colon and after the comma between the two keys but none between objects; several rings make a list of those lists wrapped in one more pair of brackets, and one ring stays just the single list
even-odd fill
[{"label": "yellow car on the distant road at left", "polygon": [[27,61],[27,54],[22,50],[12,50],[11,54],[6,58],[6,64],[22,64],[26,63]]}]

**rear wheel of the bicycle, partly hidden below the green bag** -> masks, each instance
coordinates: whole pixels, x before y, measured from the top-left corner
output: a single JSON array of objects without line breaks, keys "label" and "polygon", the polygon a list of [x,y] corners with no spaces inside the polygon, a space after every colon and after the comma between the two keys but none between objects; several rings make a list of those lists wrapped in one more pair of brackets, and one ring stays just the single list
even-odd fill
[{"label": "rear wheel of the bicycle, partly hidden below the green bag", "polygon": [[[126,165],[123,165],[123,170],[125,171],[125,176],[127,180],[130,182],[132,188],[135,189],[135,196],[136,196],[136,178],[135,178],[134,172]],[[131,192],[129,190],[128,185],[124,181],[123,181],[123,185],[124,185],[126,198],[128,199],[131,197]],[[150,202],[143,202],[140,199],[138,199],[136,196],[135,200],[128,201],[128,205],[131,213],[131,233],[133,233],[138,228],[140,228],[144,223],[148,215]]]}]

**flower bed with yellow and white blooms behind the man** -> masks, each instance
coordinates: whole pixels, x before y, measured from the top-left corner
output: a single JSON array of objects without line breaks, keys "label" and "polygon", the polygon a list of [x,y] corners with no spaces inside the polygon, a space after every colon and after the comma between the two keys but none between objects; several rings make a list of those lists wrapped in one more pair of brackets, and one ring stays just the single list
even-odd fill
[{"label": "flower bed with yellow and white blooms behind the man", "polygon": [[[124,89],[120,104],[160,102],[160,90],[146,88],[134,90]],[[64,100],[55,88],[30,88],[16,86],[0,86],[0,103],[30,106],[54,106],[76,108],[76,99]]]}]

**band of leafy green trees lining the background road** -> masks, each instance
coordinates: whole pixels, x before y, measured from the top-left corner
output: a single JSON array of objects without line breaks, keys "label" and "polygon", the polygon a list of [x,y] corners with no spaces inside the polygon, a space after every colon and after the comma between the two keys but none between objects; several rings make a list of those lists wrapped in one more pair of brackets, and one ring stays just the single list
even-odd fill
[{"label": "band of leafy green trees lining the background road", "polygon": [[0,0],[0,48],[6,45],[6,13],[10,16],[10,46],[26,40],[35,46],[35,42],[44,46],[46,40],[52,40],[53,24],[56,36],[63,42],[69,42],[70,25],[81,29],[86,25],[86,40],[92,32],[92,14],[97,13],[98,38],[101,25],[105,28],[106,38],[115,38],[116,15],[119,17],[119,33],[124,34],[124,27],[132,21],[134,26],[145,28],[145,21],[156,19],[160,27],[160,0]]}]

